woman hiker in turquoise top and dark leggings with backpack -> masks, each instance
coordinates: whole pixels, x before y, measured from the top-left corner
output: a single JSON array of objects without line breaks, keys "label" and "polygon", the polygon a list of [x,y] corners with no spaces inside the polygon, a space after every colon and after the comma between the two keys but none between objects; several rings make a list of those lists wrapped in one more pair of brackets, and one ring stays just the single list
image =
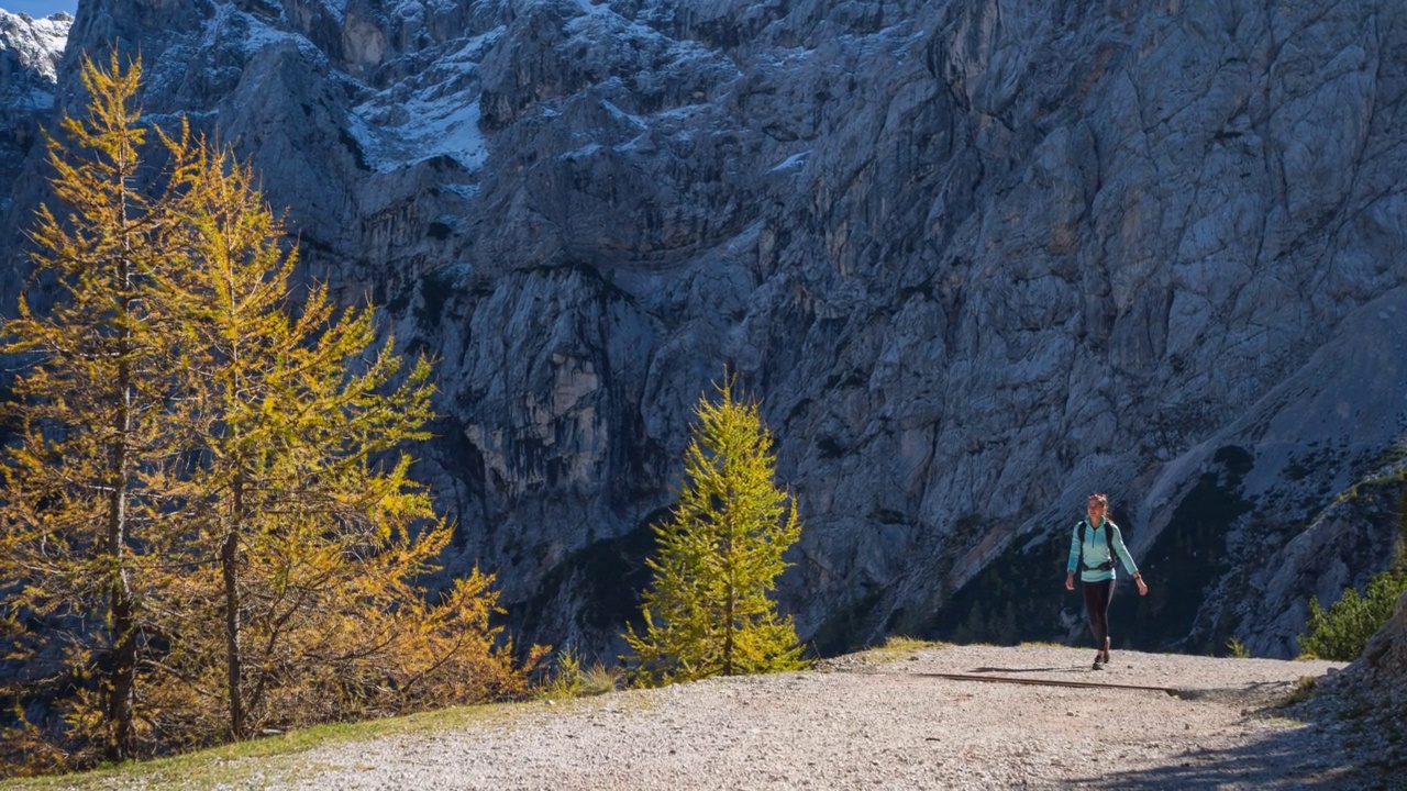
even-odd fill
[{"label": "woman hiker in turquoise top and dark leggings with backpack", "polygon": [[1109,663],[1109,601],[1114,597],[1114,553],[1124,562],[1124,569],[1138,583],[1138,595],[1148,595],[1148,586],[1134,566],[1124,546],[1124,536],[1107,517],[1109,498],[1100,493],[1089,495],[1089,515],[1075,525],[1069,536],[1069,564],[1065,567],[1065,590],[1075,590],[1075,566],[1081,564],[1079,580],[1085,587],[1085,612],[1089,614],[1089,628],[1095,632],[1095,670]]}]

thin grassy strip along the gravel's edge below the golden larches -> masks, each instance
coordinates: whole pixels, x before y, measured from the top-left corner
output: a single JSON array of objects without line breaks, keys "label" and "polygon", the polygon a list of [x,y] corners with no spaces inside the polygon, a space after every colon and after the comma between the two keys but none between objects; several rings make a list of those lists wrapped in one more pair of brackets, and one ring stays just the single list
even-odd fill
[{"label": "thin grassy strip along the gravel's edge below the golden larches", "polygon": [[454,707],[367,722],[318,725],[280,736],[222,745],[183,756],[129,761],[76,774],[7,780],[4,787],[27,791],[58,788],[97,791],[122,787],[142,788],[144,791],[167,788],[203,791],[231,785],[266,787],[276,783],[291,783],[321,768],[331,768],[303,760],[303,753],[315,747],[422,730],[464,728],[494,716],[504,716],[515,708],[521,709],[514,704]]}]

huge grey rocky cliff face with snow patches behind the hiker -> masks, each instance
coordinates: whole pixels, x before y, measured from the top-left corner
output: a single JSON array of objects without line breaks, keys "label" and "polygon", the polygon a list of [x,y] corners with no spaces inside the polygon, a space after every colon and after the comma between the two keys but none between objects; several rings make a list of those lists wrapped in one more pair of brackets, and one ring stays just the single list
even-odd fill
[{"label": "huge grey rocky cliff face with snow patches behind the hiker", "polygon": [[1154,588],[1116,639],[1283,656],[1400,535],[1396,10],[84,0],[69,52],[139,48],[148,113],[218,128],[307,274],[439,357],[447,562],[540,640],[633,614],[730,365],[820,650],[1079,632],[1068,531],[1104,490]]}]

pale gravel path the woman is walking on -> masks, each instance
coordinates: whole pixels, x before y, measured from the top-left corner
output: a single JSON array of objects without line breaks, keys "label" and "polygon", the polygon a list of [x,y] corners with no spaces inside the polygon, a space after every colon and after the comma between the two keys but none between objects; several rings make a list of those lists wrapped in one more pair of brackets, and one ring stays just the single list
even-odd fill
[{"label": "pale gravel path the woman is walking on", "polygon": [[[1344,723],[1268,711],[1341,664],[947,646],[817,670],[514,707],[324,746],[295,788],[1363,788]],[[1099,690],[926,673],[1173,687]],[[1368,773],[1368,774],[1365,774]]]}]

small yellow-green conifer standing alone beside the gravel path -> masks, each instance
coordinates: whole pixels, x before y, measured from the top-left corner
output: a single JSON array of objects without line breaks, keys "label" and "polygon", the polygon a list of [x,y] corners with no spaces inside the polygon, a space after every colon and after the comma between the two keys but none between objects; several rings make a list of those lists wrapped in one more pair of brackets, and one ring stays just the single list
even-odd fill
[{"label": "small yellow-green conifer standing alone beside the gravel path", "polygon": [[656,525],[646,562],[644,631],[626,628],[623,657],[637,685],[803,666],[791,616],[768,594],[801,536],[796,502],[778,488],[772,436],[756,401],[736,401],[736,379],[701,397],[685,450],[687,481],[670,519]]}]

